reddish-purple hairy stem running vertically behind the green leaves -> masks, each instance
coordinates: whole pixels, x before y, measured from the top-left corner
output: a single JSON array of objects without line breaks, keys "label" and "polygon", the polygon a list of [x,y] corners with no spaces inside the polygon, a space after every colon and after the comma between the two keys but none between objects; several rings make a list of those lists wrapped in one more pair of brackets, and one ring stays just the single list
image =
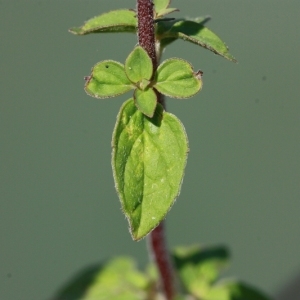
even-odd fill
[{"label": "reddish-purple hairy stem running vertically behind the green leaves", "polygon": [[[155,28],[153,20],[153,3],[151,0],[137,0],[138,41],[151,57],[154,72],[158,65],[155,49]],[[165,107],[164,98],[157,93],[158,101]],[[174,272],[170,262],[161,222],[148,236],[151,256],[155,261],[161,278],[161,288],[167,300],[175,296]]]}]

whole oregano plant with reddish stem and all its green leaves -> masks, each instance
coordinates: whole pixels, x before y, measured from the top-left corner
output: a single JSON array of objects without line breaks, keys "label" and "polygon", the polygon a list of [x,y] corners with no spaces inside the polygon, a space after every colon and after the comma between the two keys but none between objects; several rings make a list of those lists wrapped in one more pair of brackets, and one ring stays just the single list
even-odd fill
[{"label": "whole oregano plant with reddish stem and all its green leaves", "polygon": [[103,13],[70,29],[76,35],[137,34],[138,44],[125,62],[98,62],[85,77],[84,89],[99,99],[131,93],[113,130],[113,177],[131,236],[147,236],[154,259],[144,272],[128,257],[87,268],[57,293],[56,300],[269,299],[243,282],[219,279],[229,261],[223,246],[167,250],[163,222],[180,193],[189,145],[181,121],[166,111],[164,97],[196,95],[203,72],[186,58],[163,61],[163,50],[183,39],[236,61],[205,26],[208,18],[166,17],[178,11],[169,6],[170,0],[137,0],[135,9]]}]

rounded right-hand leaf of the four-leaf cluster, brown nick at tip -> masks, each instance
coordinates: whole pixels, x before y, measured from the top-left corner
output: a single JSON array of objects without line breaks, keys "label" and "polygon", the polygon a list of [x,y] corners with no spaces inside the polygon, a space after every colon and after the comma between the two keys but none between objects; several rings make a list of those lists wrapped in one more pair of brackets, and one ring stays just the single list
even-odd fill
[{"label": "rounded right-hand leaf of the four-leaf cluster, brown nick at tip", "polygon": [[157,69],[154,87],[172,98],[192,97],[202,87],[201,71],[195,73],[191,64],[183,59],[167,59]]}]

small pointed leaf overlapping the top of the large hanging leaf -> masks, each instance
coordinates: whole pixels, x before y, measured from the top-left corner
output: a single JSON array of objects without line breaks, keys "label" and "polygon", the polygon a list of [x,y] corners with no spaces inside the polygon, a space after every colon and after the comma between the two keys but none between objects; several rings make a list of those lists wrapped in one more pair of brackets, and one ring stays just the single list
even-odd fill
[{"label": "small pointed leaf overlapping the top of the large hanging leaf", "polygon": [[136,89],[134,92],[134,101],[139,111],[149,118],[153,117],[157,104],[157,96],[153,89],[144,91]]}]

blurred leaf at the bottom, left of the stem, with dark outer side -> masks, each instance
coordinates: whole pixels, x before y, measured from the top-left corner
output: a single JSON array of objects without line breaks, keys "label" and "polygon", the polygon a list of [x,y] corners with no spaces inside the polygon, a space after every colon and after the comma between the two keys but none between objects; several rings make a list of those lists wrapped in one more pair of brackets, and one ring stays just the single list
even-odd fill
[{"label": "blurred leaf at the bottom, left of the stem, with dark outer side", "polygon": [[117,257],[104,265],[84,269],[70,280],[55,300],[143,300],[150,281],[129,257]]}]

